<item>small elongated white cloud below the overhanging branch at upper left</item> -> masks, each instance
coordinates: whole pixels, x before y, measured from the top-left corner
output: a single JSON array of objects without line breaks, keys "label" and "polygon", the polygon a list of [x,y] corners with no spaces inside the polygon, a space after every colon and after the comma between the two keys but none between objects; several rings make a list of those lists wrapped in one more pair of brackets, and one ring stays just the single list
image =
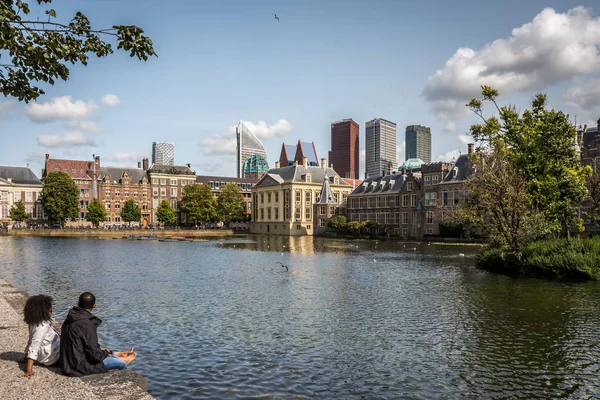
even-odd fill
[{"label": "small elongated white cloud below the overhanging branch at upper left", "polygon": [[59,119],[87,118],[98,107],[93,101],[71,101],[71,96],[55,97],[50,102],[25,106],[25,114],[35,122],[52,122]]}]

